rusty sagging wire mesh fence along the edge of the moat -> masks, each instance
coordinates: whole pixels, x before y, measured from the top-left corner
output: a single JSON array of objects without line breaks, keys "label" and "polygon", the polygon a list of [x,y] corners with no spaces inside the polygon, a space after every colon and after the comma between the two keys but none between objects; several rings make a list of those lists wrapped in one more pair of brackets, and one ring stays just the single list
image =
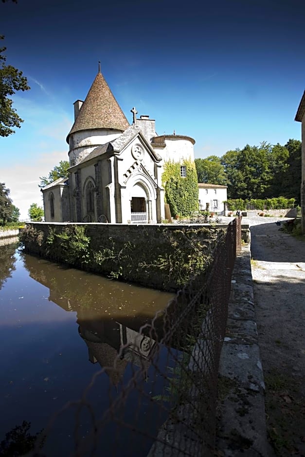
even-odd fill
[{"label": "rusty sagging wire mesh fence along the edge of the moat", "polygon": [[[240,248],[241,217],[219,234],[204,274],[138,332],[118,329],[119,352],[80,328],[90,357],[103,368],[81,399],[54,415],[28,456],[45,455],[42,440],[50,439],[58,417],[67,410],[73,417],[73,456],[213,455],[219,356]],[[108,377],[103,408],[91,395],[101,376]]]}]

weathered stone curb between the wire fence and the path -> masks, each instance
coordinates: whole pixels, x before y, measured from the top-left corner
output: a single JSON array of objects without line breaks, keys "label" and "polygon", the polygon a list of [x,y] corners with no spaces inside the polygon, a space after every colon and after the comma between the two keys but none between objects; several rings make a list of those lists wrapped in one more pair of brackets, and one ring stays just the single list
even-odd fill
[{"label": "weathered stone curb between the wire fence and the path", "polygon": [[250,244],[236,257],[218,372],[219,456],[272,456],[253,301]]}]

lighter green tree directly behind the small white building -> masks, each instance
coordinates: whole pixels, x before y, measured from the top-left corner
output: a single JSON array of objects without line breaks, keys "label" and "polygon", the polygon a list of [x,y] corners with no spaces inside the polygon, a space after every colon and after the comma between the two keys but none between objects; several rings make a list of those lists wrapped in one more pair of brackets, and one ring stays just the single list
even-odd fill
[{"label": "lighter green tree directly behind the small white building", "polygon": [[209,156],[195,159],[198,182],[226,185],[227,178],[221,158]]}]

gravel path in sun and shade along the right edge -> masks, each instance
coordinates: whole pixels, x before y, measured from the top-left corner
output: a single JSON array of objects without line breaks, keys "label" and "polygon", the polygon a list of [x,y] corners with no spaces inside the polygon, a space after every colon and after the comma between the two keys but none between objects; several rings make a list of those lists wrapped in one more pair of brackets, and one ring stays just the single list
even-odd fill
[{"label": "gravel path in sun and shade along the right edge", "polygon": [[251,225],[251,268],[266,383],[269,440],[278,456],[305,456],[305,238],[274,223]]}]

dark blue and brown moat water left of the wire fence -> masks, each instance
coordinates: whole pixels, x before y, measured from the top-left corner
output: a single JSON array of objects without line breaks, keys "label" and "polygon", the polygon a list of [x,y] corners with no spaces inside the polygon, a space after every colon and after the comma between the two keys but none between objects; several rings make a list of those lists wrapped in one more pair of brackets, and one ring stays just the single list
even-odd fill
[{"label": "dark blue and brown moat water left of the wire fence", "polygon": [[[64,404],[79,400],[94,373],[112,365],[122,342],[139,341],[140,327],[172,297],[24,255],[15,244],[0,246],[0,441],[23,421],[31,422],[35,434]],[[127,351],[120,360],[120,380],[112,377],[110,382],[109,371],[96,378],[88,401],[97,420],[108,409],[109,396],[115,400],[140,365]],[[158,393],[150,369],[147,363],[141,389]],[[131,393],[122,420],[138,428],[143,423],[146,430],[148,424],[149,433],[157,433],[166,417],[151,403]],[[75,407],[69,407],[56,417],[43,454],[73,455],[74,425]],[[86,439],[91,426],[84,408],[79,439]],[[99,435],[96,455],[146,456],[151,444],[109,422]]]}]

